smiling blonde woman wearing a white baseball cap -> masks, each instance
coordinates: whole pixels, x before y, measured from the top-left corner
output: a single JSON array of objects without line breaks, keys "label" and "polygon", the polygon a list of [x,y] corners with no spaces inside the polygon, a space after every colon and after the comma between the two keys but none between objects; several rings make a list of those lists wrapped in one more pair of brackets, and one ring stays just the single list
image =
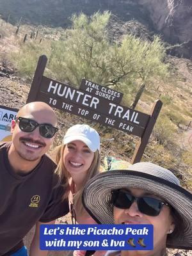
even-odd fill
[{"label": "smiling blonde woman wearing a white baseball cap", "polygon": [[[56,173],[63,183],[63,198],[69,199],[72,223],[96,223],[85,211],[82,204],[82,193],[88,180],[92,179],[100,168],[100,136],[95,129],[86,124],[70,127],[63,144],[57,149]],[[68,188],[68,189],[66,189]],[[85,251],[75,251],[74,255],[84,255]]]}]

